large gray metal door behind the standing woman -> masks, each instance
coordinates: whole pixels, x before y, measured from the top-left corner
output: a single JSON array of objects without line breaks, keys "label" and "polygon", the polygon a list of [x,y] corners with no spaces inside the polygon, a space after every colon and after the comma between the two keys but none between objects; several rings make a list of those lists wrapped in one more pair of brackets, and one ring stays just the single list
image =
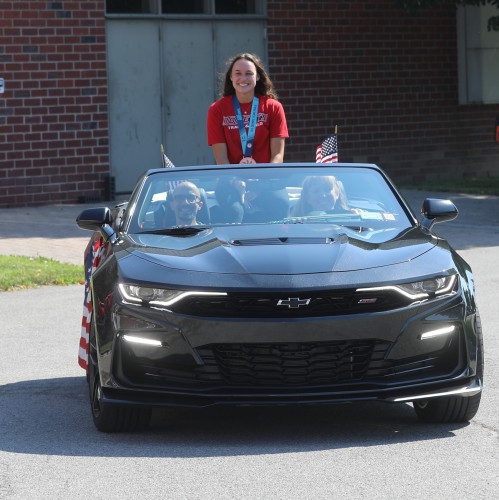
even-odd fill
[{"label": "large gray metal door behind the standing woman", "polygon": [[266,61],[265,22],[112,19],[107,21],[111,172],[116,193],[161,164],[213,163],[206,113],[219,75],[238,52]]}]

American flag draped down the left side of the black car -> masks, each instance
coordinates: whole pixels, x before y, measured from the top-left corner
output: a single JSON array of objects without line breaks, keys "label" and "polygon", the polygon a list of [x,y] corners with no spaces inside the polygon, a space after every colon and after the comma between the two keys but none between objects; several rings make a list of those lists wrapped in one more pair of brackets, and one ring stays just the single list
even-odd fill
[{"label": "American flag draped down the left side of the black car", "polygon": [[92,274],[100,264],[105,245],[103,238],[96,239],[90,243],[87,259],[85,262],[85,298],[83,300],[83,317],[81,320],[80,347],[78,349],[78,364],[87,370],[88,367],[88,338],[90,325],[92,324]]}]

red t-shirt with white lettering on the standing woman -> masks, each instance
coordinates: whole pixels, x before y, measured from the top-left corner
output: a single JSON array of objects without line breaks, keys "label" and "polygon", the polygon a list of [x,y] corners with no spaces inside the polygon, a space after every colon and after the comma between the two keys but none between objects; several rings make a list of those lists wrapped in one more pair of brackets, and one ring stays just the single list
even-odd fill
[{"label": "red t-shirt with white lettering on the standing woman", "polygon": [[[286,116],[282,104],[270,97],[258,96],[258,119],[256,122],[255,141],[252,157],[257,163],[270,161],[270,139],[289,137]],[[241,103],[246,132],[251,115],[251,102]],[[239,163],[243,158],[241,136],[237,127],[232,96],[222,97],[208,110],[207,120],[208,145],[225,143],[230,163]]]}]

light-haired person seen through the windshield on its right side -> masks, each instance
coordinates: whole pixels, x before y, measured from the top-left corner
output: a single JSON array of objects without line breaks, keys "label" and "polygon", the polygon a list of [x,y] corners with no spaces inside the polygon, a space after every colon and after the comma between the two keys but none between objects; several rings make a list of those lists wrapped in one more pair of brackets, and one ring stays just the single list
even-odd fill
[{"label": "light-haired person seen through the windshield on its right side", "polygon": [[293,216],[320,213],[350,213],[343,186],[333,175],[306,177],[298,203],[293,207]]}]

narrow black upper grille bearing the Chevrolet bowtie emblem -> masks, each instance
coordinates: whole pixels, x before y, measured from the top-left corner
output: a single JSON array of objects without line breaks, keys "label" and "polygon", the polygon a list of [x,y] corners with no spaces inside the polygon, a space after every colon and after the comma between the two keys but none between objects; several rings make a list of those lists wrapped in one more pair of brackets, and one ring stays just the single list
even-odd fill
[{"label": "narrow black upper grille bearing the Chevrolet bowtie emblem", "polygon": [[[302,304],[298,306],[289,299],[301,299]],[[307,300],[308,304],[304,304]],[[199,317],[304,318],[383,312],[408,304],[407,297],[393,291],[231,292],[224,297],[191,296],[175,304],[173,311]]]}]

